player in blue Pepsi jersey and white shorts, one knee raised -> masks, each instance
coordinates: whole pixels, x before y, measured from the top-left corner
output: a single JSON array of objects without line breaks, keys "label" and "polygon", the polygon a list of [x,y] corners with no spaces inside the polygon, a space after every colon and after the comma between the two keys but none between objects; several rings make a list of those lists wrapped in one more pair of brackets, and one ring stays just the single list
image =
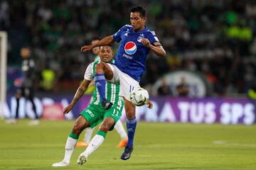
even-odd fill
[{"label": "player in blue Pepsi jersey and white shorts, one knee raised", "polygon": [[[133,89],[139,88],[139,81],[146,69],[146,57],[149,51],[156,55],[165,56],[166,52],[161,46],[154,31],[146,28],[146,11],[142,6],[132,8],[130,13],[131,25],[125,25],[114,35],[107,36],[94,45],[84,45],[82,52],[92,50],[94,47],[109,45],[112,42],[120,42],[119,50],[115,56],[114,64],[100,63],[96,66],[95,84],[100,94],[102,107],[106,110],[112,106],[105,96],[105,84],[107,80],[119,81],[119,96],[124,98],[124,108],[127,115],[128,142],[121,155],[121,159],[127,160],[133,151],[134,132],[137,126],[135,106],[129,99]],[[151,101],[147,103],[153,107]]]}]

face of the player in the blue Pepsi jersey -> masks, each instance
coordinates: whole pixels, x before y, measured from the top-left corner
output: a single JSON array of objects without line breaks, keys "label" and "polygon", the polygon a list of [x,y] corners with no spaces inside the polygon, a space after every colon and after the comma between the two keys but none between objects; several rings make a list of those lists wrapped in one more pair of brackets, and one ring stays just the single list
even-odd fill
[{"label": "face of the player in the blue Pepsi jersey", "polygon": [[134,12],[130,14],[130,21],[132,28],[134,28],[135,31],[139,31],[144,29],[146,17],[141,17],[138,12]]}]

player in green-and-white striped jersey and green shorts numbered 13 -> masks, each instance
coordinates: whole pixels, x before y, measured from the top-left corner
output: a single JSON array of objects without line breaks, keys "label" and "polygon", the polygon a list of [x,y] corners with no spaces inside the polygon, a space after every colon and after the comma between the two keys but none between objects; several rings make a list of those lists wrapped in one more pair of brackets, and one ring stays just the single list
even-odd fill
[{"label": "player in green-and-white striped jersey and green shorts numbered 13", "polygon": [[[112,60],[113,56],[114,52],[111,46],[100,47],[101,62],[114,62]],[[85,93],[85,90],[89,86],[92,79],[94,79],[95,77],[95,66],[98,63],[99,62],[92,62],[91,64],[89,64],[85,72],[85,79],[82,81],[82,84],[76,91],[75,96],[70,105],[64,108],[63,113],[68,113],[73,108],[75,103],[79,100],[79,98]],[[79,118],[75,121],[73,130],[70,132],[70,135],[68,136],[68,140],[65,145],[64,159],[61,162],[53,164],[52,166],[69,165],[71,155],[78,141],[78,137],[82,130],[84,130],[85,128],[94,128],[96,125],[103,121],[97,134],[92,138],[92,140],[89,143],[89,146],[85,149],[85,152],[82,152],[82,154],[80,154],[80,157],[78,158],[79,165],[82,165],[87,161],[87,157],[89,157],[90,154],[92,154],[92,152],[95,151],[95,149],[102,145],[102,142],[104,141],[107,132],[114,128],[114,125],[117,123],[117,120],[119,120],[122,114],[124,101],[122,98],[119,97],[119,84],[107,83],[106,89],[107,100],[111,101],[113,103],[113,106],[109,110],[105,111],[105,109],[102,108],[100,103],[100,95],[98,94],[97,89],[95,89],[96,93],[93,96],[94,99],[92,103],[90,103],[90,106],[85,108],[85,110],[82,111],[82,113],[80,113]]]}]

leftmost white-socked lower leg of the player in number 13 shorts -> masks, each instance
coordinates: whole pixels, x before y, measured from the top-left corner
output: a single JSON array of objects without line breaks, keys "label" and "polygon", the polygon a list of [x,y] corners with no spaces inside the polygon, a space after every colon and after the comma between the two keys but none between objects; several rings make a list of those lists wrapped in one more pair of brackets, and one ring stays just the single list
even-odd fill
[{"label": "leftmost white-socked lower leg of the player in number 13 shorts", "polygon": [[70,135],[68,136],[68,140],[65,145],[65,156],[64,159],[61,162],[53,164],[53,166],[68,166],[70,163],[70,158],[73,154],[73,151],[75,149],[75,145],[78,141],[78,137],[82,130],[87,128],[89,126],[89,123],[83,117],[82,115],[79,116],[79,118],[75,121],[75,125],[73,127],[72,132],[70,132]]}]

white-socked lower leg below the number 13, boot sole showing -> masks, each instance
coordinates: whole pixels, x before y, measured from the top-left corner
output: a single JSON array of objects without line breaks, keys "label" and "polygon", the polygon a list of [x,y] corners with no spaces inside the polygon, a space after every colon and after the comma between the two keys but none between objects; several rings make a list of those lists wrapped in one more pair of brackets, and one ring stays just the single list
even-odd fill
[{"label": "white-socked lower leg below the number 13, boot sole showing", "polygon": [[105,118],[104,122],[100,126],[100,130],[97,132],[97,134],[92,138],[90,144],[85,149],[85,152],[82,152],[80,156],[78,157],[78,164],[81,166],[82,164],[85,164],[87,162],[88,157],[92,152],[95,152],[95,150],[102,145],[102,142],[105,140],[105,136],[107,135],[107,131],[112,128],[114,125],[114,119],[107,117]]}]

